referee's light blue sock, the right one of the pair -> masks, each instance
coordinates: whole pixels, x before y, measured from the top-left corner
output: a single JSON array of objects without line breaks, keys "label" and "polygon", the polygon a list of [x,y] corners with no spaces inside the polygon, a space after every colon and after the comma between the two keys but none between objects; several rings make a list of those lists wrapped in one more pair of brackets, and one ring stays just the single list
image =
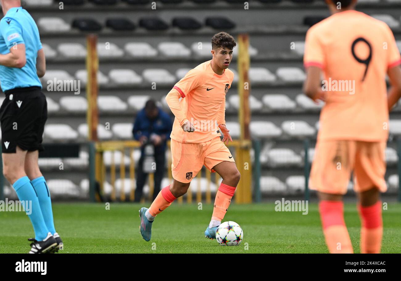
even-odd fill
[{"label": "referee's light blue sock, the right one of the pair", "polygon": [[43,176],[41,176],[31,180],[30,182],[38,194],[39,204],[41,205],[42,214],[43,218],[45,219],[47,229],[49,229],[51,234],[55,234],[56,230],[54,228],[50,191],[47,187],[46,180]]}]

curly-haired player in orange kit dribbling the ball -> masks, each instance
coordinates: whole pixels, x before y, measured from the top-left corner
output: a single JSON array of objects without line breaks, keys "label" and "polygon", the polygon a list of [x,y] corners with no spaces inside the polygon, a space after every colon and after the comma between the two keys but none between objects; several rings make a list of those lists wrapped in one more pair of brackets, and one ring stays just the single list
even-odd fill
[{"label": "curly-haired player in orange kit dribbling the ball", "polygon": [[213,58],[188,71],[166,97],[175,115],[170,135],[174,180],[159,192],[149,209],[140,209],[140,232],[146,241],[150,241],[156,215],[186,193],[192,178],[203,165],[223,178],[217,190],[211,222],[205,231],[207,238],[216,238],[217,227],[241,177],[225,146],[225,142],[233,141],[225,126],[225,96],[234,79],[234,73],[228,67],[236,45],[230,34],[215,34],[212,38]]}]

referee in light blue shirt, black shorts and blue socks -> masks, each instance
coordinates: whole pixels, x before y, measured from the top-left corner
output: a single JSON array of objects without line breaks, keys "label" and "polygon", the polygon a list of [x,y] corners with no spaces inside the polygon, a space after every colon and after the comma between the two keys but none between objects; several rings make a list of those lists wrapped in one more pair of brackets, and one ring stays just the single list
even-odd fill
[{"label": "referee in light blue shirt, black shorts and blue socks", "polygon": [[[0,0],[0,82],[6,98],[0,108],[3,174],[28,214],[35,232],[29,253],[62,249],[46,180],[38,166],[47,120],[46,97],[39,77],[46,71],[38,27],[20,0]],[[26,210],[26,208],[25,208]]]}]

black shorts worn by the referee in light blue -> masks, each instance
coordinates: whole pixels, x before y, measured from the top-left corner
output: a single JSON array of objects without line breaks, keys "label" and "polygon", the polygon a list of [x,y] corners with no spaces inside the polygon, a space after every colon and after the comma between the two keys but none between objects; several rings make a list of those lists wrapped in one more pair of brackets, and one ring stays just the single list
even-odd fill
[{"label": "black shorts worn by the referee in light blue", "polygon": [[43,151],[43,131],[47,120],[46,97],[39,87],[15,88],[5,92],[0,107],[2,152]]}]

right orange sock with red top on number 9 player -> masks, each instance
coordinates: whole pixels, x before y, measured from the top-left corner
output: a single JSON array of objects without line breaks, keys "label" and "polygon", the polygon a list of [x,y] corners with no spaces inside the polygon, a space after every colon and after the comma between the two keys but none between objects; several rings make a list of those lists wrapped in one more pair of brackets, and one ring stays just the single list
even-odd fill
[{"label": "right orange sock with red top on number 9 player", "polygon": [[380,253],[383,237],[383,218],[381,216],[382,202],[378,201],[372,206],[358,206],[362,227],[360,228],[360,253]]}]

